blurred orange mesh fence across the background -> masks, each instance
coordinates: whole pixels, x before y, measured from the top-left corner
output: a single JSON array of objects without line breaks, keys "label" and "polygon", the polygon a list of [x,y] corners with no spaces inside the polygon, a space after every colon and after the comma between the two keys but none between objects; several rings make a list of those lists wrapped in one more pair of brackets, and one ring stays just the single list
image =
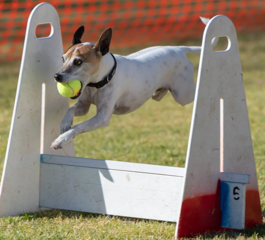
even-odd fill
[{"label": "blurred orange mesh fence across the background", "polygon": [[[19,59],[26,23],[39,0],[0,0],[0,61]],[[84,41],[96,42],[102,31],[113,28],[112,48],[201,38],[199,16],[224,14],[237,32],[264,31],[264,0],[47,0],[57,9],[64,48],[73,33],[85,25]],[[39,34],[49,35],[49,28]]]}]

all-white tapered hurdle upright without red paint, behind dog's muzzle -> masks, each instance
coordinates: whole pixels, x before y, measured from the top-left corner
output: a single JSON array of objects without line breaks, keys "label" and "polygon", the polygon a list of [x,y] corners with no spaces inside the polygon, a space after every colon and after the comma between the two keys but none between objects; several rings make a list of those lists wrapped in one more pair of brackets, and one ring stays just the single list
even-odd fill
[{"label": "all-white tapered hurdle upright without red paint, behind dog's muzzle", "polygon": [[[51,36],[37,39],[40,23],[52,25]],[[43,152],[74,155],[73,142],[67,150],[50,149],[60,135],[60,122],[69,101],[56,87],[54,74],[62,66],[60,21],[52,5],[44,3],[32,11],[26,28],[14,112],[0,188],[0,217],[39,210],[40,132],[42,84],[46,85]]]}]

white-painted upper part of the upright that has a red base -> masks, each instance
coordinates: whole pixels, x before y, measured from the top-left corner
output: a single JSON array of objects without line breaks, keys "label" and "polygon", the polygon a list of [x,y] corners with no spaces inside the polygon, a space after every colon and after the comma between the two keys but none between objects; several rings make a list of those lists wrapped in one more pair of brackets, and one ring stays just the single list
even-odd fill
[{"label": "white-painted upper part of the upright that has a red base", "polygon": [[[211,41],[221,36],[227,36],[228,48],[215,52]],[[220,144],[221,98],[223,142]],[[224,150],[221,154],[220,145]],[[186,199],[217,193],[220,156],[224,172],[250,174],[246,189],[258,191],[236,31],[232,21],[223,15],[212,18],[203,34],[181,204]],[[177,226],[175,237],[178,228],[181,225]]]}]

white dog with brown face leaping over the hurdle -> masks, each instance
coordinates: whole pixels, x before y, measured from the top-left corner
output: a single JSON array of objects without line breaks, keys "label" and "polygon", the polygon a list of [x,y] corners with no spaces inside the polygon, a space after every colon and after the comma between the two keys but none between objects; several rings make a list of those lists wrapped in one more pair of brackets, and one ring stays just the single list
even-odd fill
[{"label": "white dog with brown face leaping over the hurdle", "polygon": [[[208,18],[202,18],[204,24]],[[98,42],[81,42],[81,26],[74,34],[72,46],[63,55],[63,67],[55,74],[59,83],[80,80],[82,88],[72,99],[77,103],[67,110],[61,122],[61,135],[51,148],[62,148],[82,132],[109,126],[112,114],[131,113],[148,99],[160,101],[169,91],[184,106],[195,96],[193,64],[187,53],[200,53],[200,46],[154,46],[128,56],[109,52],[112,29],[105,30]],[[213,39],[216,45],[218,38]],[[86,115],[95,104],[96,116],[72,126],[74,116]]]}]

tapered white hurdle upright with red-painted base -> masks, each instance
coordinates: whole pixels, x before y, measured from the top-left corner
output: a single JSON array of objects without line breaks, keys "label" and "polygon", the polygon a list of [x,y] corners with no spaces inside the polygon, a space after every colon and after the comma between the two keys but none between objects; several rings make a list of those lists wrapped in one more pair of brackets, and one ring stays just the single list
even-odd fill
[{"label": "tapered white hurdle upright with red-painted base", "polygon": [[[227,36],[228,47],[215,52],[211,41],[219,36]],[[262,224],[239,47],[234,25],[223,15],[212,18],[203,34],[176,238],[220,229],[220,156],[225,172],[250,174],[246,227]]]}]

